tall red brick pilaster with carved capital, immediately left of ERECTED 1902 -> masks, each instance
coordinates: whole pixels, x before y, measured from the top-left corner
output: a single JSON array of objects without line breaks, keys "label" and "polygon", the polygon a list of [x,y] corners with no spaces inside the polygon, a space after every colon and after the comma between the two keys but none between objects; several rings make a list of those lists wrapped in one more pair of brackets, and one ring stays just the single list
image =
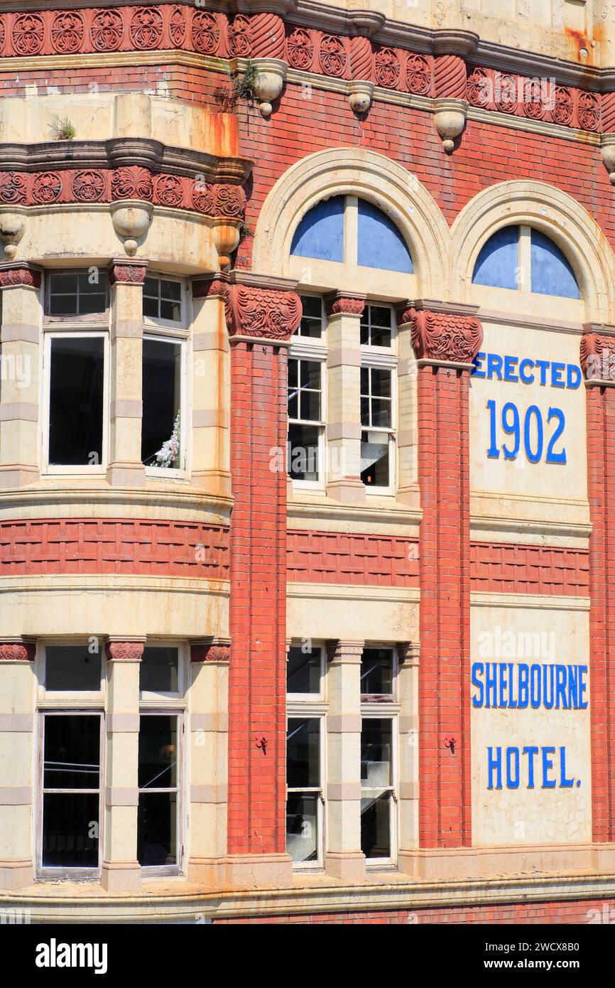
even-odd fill
[{"label": "tall red brick pilaster with carved capital, immediately left of ERECTED 1902", "polygon": [[471,843],[469,377],[483,334],[468,309],[433,302],[416,303],[401,323],[412,329],[419,373],[419,844],[463,847]]}]

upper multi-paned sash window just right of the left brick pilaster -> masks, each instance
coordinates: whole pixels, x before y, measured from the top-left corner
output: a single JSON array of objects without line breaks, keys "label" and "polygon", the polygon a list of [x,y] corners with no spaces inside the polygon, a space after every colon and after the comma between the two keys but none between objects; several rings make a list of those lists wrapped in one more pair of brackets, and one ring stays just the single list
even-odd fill
[{"label": "upper multi-paned sash window just right of the left brick pilaster", "polygon": [[303,316],[288,358],[287,472],[305,486],[321,486],[325,443],[323,300],[301,297]]}]

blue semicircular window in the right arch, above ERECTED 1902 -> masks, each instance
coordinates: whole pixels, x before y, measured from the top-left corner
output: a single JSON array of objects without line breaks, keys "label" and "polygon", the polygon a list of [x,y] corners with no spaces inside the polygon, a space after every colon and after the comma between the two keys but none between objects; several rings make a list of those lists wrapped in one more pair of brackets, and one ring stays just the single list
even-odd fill
[{"label": "blue semicircular window in the right arch, above ERECTED 1902", "polygon": [[497,230],[481,248],[472,282],[580,298],[575,272],[564,253],[548,236],[529,226]]}]

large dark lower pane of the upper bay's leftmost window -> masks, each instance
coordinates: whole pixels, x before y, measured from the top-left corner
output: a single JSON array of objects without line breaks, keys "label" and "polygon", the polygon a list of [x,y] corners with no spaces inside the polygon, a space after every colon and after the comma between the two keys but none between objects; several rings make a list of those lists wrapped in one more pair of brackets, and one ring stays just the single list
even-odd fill
[{"label": "large dark lower pane of the upper bay's leftmost window", "polygon": [[50,345],[49,464],[100,464],[105,341],[102,336],[63,336]]}]

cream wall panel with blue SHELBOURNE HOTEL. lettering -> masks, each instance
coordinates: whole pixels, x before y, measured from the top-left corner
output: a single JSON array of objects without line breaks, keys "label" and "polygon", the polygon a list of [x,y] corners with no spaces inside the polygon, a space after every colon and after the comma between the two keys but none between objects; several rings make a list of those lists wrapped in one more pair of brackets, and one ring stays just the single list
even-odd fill
[{"label": "cream wall panel with blue SHELBOURNE HOTEL. lettering", "polygon": [[[472,662],[512,664],[588,665],[589,627],[586,612],[558,610],[556,606],[527,608],[473,607]],[[484,682],[484,677],[483,677]],[[585,709],[486,708],[472,706],[472,832],[480,846],[576,844],[591,840],[591,760],[588,673]],[[470,684],[469,702],[479,691]],[[513,698],[514,699],[514,698]],[[534,758],[534,788],[528,788],[526,746],[539,748]],[[489,789],[489,748],[501,748],[502,788]],[[506,748],[518,748],[518,788],[506,786]],[[542,748],[553,768],[547,773],[554,788],[543,786]],[[566,777],[562,787],[561,748],[566,750]],[[512,756],[514,758],[514,756]],[[494,785],[497,778],[492,777]]]}]

